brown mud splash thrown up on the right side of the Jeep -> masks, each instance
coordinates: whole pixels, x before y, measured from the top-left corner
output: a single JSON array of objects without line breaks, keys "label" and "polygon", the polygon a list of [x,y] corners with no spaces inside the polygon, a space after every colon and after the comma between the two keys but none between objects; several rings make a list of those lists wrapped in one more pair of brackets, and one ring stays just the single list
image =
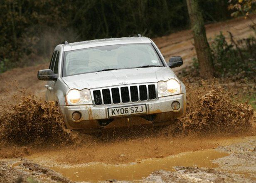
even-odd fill
[{"label": "brown mud splash thrown up on the right side of the Jeep", "polygon": [[182,134],[249,132],[255,122],[254,110],[246,103],[236,103],[222,87],[187,84],[187,115],[180,119],[177,132]]}]

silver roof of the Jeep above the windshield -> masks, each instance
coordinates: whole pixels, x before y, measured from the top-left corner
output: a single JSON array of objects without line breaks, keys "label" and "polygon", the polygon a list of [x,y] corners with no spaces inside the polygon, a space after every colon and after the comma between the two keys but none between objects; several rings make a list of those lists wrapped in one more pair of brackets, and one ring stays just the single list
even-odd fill
[{"label": "silver roof of the Jeep above the windshield", "polygon": [[90,41],[80,41],[69,44],[62,44],[64,51],[71,51],[75,49],[90,48],[96,46],[106,46],[115,44],[136,44],[136,43],[150,43],[151,39],[148,37],[121,37],[109,39],[94,39]]}]

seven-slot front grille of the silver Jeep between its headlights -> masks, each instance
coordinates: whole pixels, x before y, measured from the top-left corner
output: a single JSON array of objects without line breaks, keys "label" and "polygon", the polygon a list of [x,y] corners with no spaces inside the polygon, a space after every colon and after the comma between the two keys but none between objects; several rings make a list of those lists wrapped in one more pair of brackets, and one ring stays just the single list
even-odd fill
[{"label": "seven-slot front grille of the silver Jeep between its headlights", "polygon": [[146,100],[155,100],[157,91],[155,84],[130,85],[114,88],[104,88],[93,90],[93,98],[95,105],[109,105],[139,102]]}]

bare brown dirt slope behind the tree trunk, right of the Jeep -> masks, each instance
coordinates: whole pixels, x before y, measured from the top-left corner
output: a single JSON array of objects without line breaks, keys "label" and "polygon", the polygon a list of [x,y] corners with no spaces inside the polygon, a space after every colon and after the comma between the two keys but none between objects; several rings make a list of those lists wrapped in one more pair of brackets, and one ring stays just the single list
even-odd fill
[{"label": "bare brown dirt slope behind the tree trunk, right of the Jeep", "polygon": [[[256,16],[252,17],[252,20],[255,22]],[[244,17],[207,24],[205,26],[207,39],[211,44],[214,37],[218,35],[220,31],[225,37],[229,37],[227,31],[231,32],[234,35],[234,39],[255,36],[254,30],[249,27],[251,24],[251,20],[244,20]],[[182,30],[174,34],[155,38],[153,41],[158,45],[166,61],[168,61],[171,56],[182,57],[184,64],[178,68],[174,68],[173,70],[176,72],[191,64],[192,59],[196,57],[191,30]]]}]

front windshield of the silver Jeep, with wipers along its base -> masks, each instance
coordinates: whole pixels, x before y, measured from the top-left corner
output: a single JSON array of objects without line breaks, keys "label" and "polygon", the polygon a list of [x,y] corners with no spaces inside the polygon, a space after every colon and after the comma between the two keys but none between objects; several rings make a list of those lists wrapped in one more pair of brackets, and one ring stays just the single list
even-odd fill
[{"label": "front windshield of the silver Jeep, with wipers along its base", "polygon": [[66,51],[63,76],[115,69],[163,66],[149,44],[119,44]]}]

